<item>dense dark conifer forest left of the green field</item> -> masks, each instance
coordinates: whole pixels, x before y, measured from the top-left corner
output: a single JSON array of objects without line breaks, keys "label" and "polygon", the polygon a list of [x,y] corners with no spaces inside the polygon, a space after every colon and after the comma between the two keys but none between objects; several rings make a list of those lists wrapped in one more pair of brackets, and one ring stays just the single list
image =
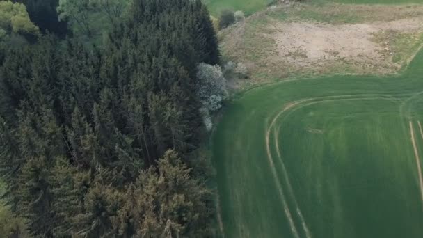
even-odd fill
[{"label": "dense dark conifer forest left of the green field", "polygon": [[42,33],[0,68],[1,175],[29,233],[212,235],[214,196],[195,167],[197,66],[220,59],[207,8],[134,0],[101,48]]}]

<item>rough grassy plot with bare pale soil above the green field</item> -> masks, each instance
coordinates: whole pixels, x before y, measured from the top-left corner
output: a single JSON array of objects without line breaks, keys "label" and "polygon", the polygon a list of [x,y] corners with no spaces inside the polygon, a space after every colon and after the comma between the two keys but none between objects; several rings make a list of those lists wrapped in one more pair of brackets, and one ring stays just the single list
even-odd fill
[{"label": "rough grassy plot with bare pale soil above the green field", "polygon": [[423,6],[294,4],[269,8],[221,31],[223,55],[250,81],[322,74],[395,74],[422,45]]}]

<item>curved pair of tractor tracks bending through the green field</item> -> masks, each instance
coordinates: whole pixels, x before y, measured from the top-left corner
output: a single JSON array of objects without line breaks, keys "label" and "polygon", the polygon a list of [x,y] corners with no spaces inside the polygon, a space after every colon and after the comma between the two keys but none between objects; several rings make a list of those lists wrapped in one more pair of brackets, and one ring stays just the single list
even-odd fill
[{"label": "curved pair of tractor tracks bending through the green field", "polygon": [[[355,95],[333,95],[333,96],[324,96],[324,97],[312,97],[312,98],[306,98],[303,100],[297,100],[293,102],[288,102],[285,104],[284,108],[271,120],[271,124],[266,130],[266,152],[267,157],[269,160],[269,165],[271,166],[272,174],[274,177],[274,180],[276,182],[276,186],[278,187],[278,191],[280,193],[280,198],[282,200],[282,205],[285,209],[285,214],[287,215],[287,218],[289,219],[289,223],[291,226],[291,230],[295,237],[298,237],[298,231],[296,230],[295,223],[292,220],[292,214],[289,211],[289,207],[287,205],[287,201],[285,198],[285,193],[283,193],[282,184],[280,183],[280,180],[278,179],[278,173],[276,172],[275,163],[273,161],[273,156],[271,154],[271,147],[270,147],[270,136],[271,136],[271,129],[276,124],[276,121],[280,116],[282,116],[287,111],[291,111],[292,109],[300,109],[303,106],[308,106],[311,104],[317,104],[321,102],[333,102],[333,101],[340,101],[340,100],[376,100],[376,99],[385,99],[385,100],[398,100],[394,96],[401,96],[401,95],[408,95],[408,94],[355,94]],[[317,100],[317,101],[316,101]],[[273,131],[276,134],[276,130]],[[283,177],[285,178],[285,182],[288,186],[288,192],[290,196],[292,197],[292,200],[294,201],[296,213],[298,214],[298,218],[301,220],[301,225],[305,233],[305,237],[310,238],[312,237],[310,230],[307,227],[307,223],[305,222],[305,219],[303,217],[303,214],[301,213],[301,209],[298,206],[298,202],[296,201],[294,191],[292,189],[291,182],[289,182],[289,176],[287,174],[287,170],[285,168],[285,163],[282,159],[282,154],[280,153],[279,143],[278,143],[278,136],[275,137],[275,145],[276,145],[276,152],[278,154],[278,161],[280,162],[282,166],[282,173],[284,173]]]}]

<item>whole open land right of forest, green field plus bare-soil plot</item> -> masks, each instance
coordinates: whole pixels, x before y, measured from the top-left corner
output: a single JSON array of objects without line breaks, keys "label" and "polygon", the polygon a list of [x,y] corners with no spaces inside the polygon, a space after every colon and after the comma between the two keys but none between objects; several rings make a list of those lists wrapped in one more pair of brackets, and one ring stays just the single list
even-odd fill
[{"label": "whole open land right of forest, green field plus bare-soil plot", "polygon": [[214,132],[223,237],[423,237],[422,17],[298,4],[221,31],[251,70],[239,85],[278,81],[239,93]]}]

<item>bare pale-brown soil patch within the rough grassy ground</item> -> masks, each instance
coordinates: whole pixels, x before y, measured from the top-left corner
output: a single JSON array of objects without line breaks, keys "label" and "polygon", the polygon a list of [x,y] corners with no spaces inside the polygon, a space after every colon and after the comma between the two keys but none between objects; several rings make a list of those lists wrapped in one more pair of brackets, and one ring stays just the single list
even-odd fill
[{"label": "bare pale-brown soil patch within the rough grassy ground", "polygon": [[293,67],[322,68],[333,61],[372,68],[375,73],[396,72],[402,62],[392,62],[392,49],[372,40],[381,31],[397,33],[423,30],[423,17],[400,19],[373,24],[320,24],[285,22],[273,24],[278,31],[269,35],[276,42],[278,55],[273,61],[283,61]]}]

